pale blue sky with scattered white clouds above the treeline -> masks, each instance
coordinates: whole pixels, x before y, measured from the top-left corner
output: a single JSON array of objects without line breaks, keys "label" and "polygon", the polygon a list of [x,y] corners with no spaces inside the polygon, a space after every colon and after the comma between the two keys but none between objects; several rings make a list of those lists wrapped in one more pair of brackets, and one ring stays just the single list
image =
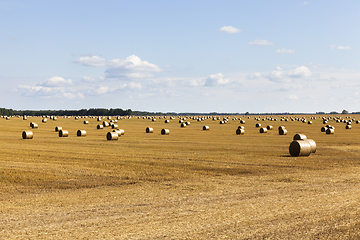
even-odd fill
[{"label": "pale blue sky with scattered white clouds above the treeline", "polygon": [[1,1],[13,109],[360,111],[360,1]]}]

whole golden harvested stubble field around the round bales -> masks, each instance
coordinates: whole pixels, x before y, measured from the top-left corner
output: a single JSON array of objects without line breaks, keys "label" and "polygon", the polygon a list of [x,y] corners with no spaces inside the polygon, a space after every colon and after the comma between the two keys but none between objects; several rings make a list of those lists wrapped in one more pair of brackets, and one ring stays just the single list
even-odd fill
[{"label": "whole golden harvested stubble field around the round bales", "polygon": [[[186,128],[178,118],[122,119],[118,141],[96,119],[1,118],[0,239],[360,238],[360,124],[330,120],[335,134],[326,135],[321,116],[312,125],[274,116],[260,121],[274,130],[260,134],[254,116],[233,117],[187,119]],[[30,122],[39,128],[24,140]],[[239,125],[245,135],[235,134]],[[317,152],[291,157],[295,133]]]}]

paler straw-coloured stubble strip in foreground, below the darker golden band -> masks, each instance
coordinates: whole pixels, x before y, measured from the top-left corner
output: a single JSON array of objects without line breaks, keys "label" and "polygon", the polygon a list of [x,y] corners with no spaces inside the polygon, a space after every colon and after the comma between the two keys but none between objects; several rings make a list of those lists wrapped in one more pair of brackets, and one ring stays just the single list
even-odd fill
[{"label": "paler straw-coloured stubble strip in foreground, below the darker golden band", "polygon": [[219,176],[14,193],[0,202],[0,239],[358,238],[360,182],[331,179]]}]

